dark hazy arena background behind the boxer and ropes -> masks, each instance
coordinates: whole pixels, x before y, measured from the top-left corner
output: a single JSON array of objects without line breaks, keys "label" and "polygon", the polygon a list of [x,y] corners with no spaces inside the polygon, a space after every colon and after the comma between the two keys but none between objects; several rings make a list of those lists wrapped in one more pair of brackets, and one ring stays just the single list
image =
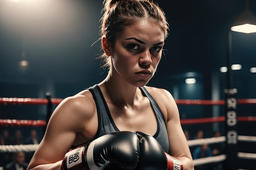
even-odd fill
[{"label": "dark hazy arena background behind the boxer and ropes", "polygon": [[[166,88],[175,99],[224,99],[226,39],[245,10],[245,0],[157,0],[170,24],[162,57],[149,86]],[[256,0],[248,0],[256,15]],[[107,75],[96,58],[101,0],[0,0],[0,97],[65,98],[97,84]],[[231,33],[231,87],[240,99],[256,98],[256,33]],[[96,42],[95,44],[93,44]],[[93,45],[92,45],[93,44]],[[23,55],[22,55],[23,53]],[[19,62],[29,66],[21,68]],[[195,84],[185,84],[186,78]],[[178,106],[181,119],[224,115],[224,107]],[[238,116],[255,116],[255,105],[238,106]],[[0,105],[0,119],[45,119],[45,106]],[[217,114],[217,115],[216,115]],[[243,124],[242,133],[255,124]],[[247,127],[249,126],[249,127]],[[244,127],[247,130],[244,130]],[[211,136],[213,127],[199,124]],[[216,128],[215,128],[216,129]],[[222,130],[223,124],[218,124]],[[248,135],[248,134],[247,134]]]}]

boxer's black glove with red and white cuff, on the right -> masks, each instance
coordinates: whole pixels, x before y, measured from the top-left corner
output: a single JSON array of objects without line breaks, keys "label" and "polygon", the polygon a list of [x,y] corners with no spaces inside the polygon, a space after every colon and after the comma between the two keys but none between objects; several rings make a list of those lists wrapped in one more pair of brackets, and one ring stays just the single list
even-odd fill
[{"label": "boxer's black glove with red and white cuff, on the right", "polygon": [[157,140],[143,132],[134,132],[139,138],[139,164],[136,170],[184,170],[178,158],[164,152]]}]

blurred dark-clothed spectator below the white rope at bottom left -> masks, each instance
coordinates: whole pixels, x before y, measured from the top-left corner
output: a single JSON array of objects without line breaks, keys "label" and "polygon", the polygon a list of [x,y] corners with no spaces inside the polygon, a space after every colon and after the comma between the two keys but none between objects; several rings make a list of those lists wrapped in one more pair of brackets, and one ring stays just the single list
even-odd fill
[{"label": "blurred dark-clothed spectator below the white rope at bottom left", "polygon": [[18,151],[13,158],[14,160],[4,166],[3,170],[27,170],[28,163],[25,162],[25,152]]}]

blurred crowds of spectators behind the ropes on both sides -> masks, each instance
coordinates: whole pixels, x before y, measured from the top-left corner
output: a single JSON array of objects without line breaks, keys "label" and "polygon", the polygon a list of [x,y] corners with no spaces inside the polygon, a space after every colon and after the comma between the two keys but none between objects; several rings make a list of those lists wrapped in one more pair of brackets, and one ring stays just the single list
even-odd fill
[{"label": "blurred crowds of spectators behind the ropes on both sides", "polygon": [[[22,130],[16,129],[14,135],[9,134],[9,130],[3,130],[0,135],[1,145],[22,145],[22,144],[39,144],[41,137],[38,137],[37,130],[31,129],[29,136],[24,136]],[[202,139],[204,137],[204,131],[198,130],[194,137],[190,136],[189,130],[184,130],[184,134],[187,140],[190,139]],[[11,137],[12,136],[12,137]],[[208,135],[209,136],[209,135]],[[211,137],[220,137],[219,131],[213,132]],[[199,146],[190,147],[193,159],[199,159],[203,157],[212,157],[216,155],[222,155],[224,145],[222,143],[215,144],[202,144]],[[34,152],[0,152],[0,167],[3,170],[26,170],[28,163],[33,156]],[[195,170],[222,170],[222,163],[209,163],[205,165],[195,166]]]}]

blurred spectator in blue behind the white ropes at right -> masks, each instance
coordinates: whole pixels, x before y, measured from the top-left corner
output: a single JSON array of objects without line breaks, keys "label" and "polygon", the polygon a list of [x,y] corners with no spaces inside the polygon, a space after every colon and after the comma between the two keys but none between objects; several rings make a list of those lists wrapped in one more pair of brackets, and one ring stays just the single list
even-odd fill
[{"label": "blurred spectator in blue behind the white ropes at right", "polygon": [[[199,159],[199,158],[204,158],[204,157],[211,157],[211,149],[208,146],[208,144],[202,144],[201,146],[198,146],[195,148],[193,152],[193,159]],[[195,166],[195,170],[209,170],[209,165],[200,165],[200,166]]]}]

